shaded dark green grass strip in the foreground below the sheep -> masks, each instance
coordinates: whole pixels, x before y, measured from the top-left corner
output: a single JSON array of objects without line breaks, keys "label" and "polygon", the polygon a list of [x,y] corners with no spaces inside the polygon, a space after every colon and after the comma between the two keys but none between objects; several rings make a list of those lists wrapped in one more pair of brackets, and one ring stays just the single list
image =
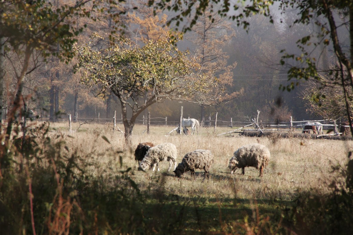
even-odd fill
[{"label": "shaded dark green grass strip in the foreground below the sheep", "polygon": [[[162,200],[150,199],[144,204],[144,216],[152,231],[168,234],[225,234],[226,224],[243,223],[245,218],[256,221],[257,216],[270,216],[279,223],[281,209],[288,201],[180,197],[164,195]],[[259,213],[259,214],[256,214]],[[256,215],[255,215],[256,214]]]}]

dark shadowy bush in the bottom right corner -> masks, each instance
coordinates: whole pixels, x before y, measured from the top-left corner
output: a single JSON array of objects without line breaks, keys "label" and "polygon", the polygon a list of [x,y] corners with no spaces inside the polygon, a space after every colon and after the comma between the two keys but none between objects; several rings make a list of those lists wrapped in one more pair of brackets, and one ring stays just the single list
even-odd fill
[{"label": "dark shadowy bush in the bottom right corner", "polygon": [[333,167],[335,171],[346,179],[343,185],[337,179],[329,194],[300,192],[287,211],[288,223],[298,234],[353,234],[353,160],[348,159],[346,167]]}]

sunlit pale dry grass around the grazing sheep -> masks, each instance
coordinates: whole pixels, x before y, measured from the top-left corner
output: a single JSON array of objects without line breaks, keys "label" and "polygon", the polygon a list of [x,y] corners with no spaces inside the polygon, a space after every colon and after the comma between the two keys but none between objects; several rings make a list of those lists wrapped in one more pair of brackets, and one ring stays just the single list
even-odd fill
[{"label": "sunlit pale dry grass around the grazing sheep", "polygon": [[[163,184],[163,190],[179,196],[193,197],[202,195],[205,198],[232,198],[238,199],[281,199],[290,200],[297,191],[316,188],[319,191],[328,191],[328,185],[337,177],[331,173],[331,166],[344,165],[347,161],[347,152],[353,149],[353,143],[337,140],[311,140],[287,138],[272,141],[262,137],[220,137],[213,135],[213,128],[200,128],[199,135],[179,136],[173,132],[165,136],[173,127],[151,126],[150,134],[146,134],[146,126],[136,125],[132,136],[132,149],[127,149],[124,136],[119,131],[112,130],[112,124],[86,124],[78,131],[68,133],[67,123],[53,123],[55,128],[52,134],[60,133],[67,138],[69,149],[79,149],[84,155],[94,155],[93,160],[102,166],[119,168],[119,156],[123,157],[123,167],[132,167],[133,178],[141,190],[157,190]],[[73,130],[78,124],[73,125]],[[122,125],[119,125],[124,130]],[[217,133],[230,131],[229,128],[217,128]],[[110,144],[103,140],[107,137]],[[195,149],[209,149],[215,155],[215,163],[211,169],[211,180],[201,183],[203,172],[198,171],[196,180],[190,174],[184,174],[177,179],[174,173],[167,173],[168,162],[160,164],[161,172],[137,171],[137,162],[134,161],[133,151],[140,142],[155,144],[170,142],[178,149],[178,162],[183,156]],[[240,146],[249,143],[261,143],[271,152],[271,160],[264,177],[258,177],[255,168],[246,168],[245,175],[238,170],[234,175],[229,174],[228,162],[233,152]],[[110,154],[106,150],[112,148]],[[124,154],[113,151],[124,150]],[[102,155],[103,154],[103,155]],[[94,170],[94,169],[92,169]],[[100,174],[101,172],[97,172]],[[156,183],[157,182],[157,183]]]}]

